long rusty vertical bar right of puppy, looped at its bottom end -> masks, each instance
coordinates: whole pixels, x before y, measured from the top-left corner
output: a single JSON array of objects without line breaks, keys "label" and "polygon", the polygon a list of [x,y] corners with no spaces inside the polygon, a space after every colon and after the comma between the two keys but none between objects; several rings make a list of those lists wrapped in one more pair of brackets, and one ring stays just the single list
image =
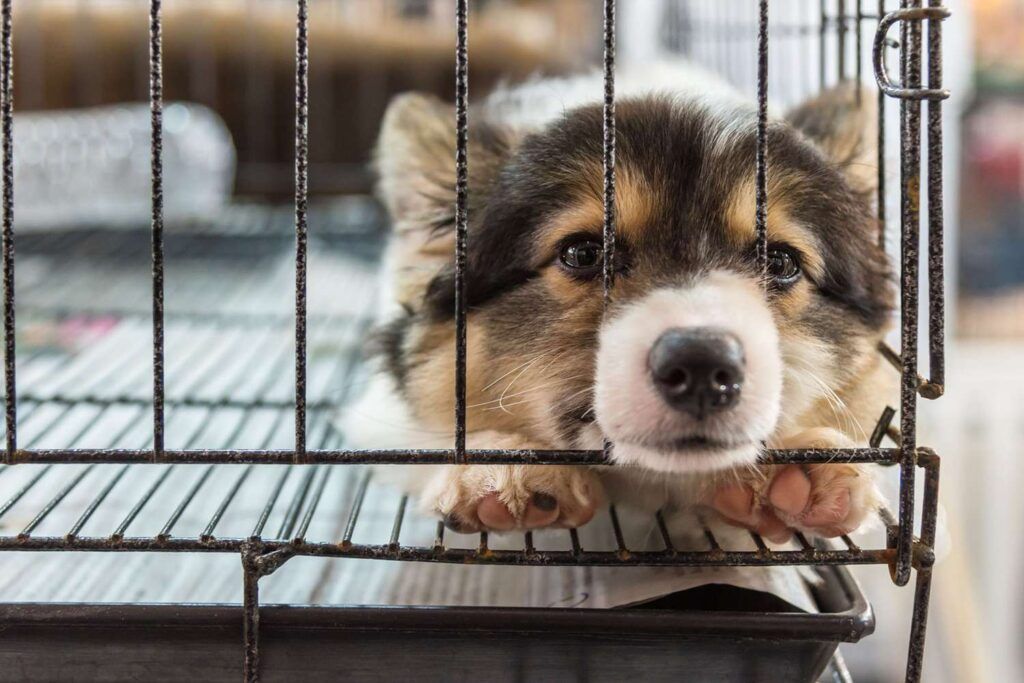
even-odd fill
[{"label": "long rusty vertical bar right of puppy, looped at its bottom end", "polygon": [[[903,0],[903,7],[920,7],[921,0]],[[903,87],[921,86],[921,23],[900,24]],[[921,222],[921,101],[900,100],[900,492],[899,539],[893,581],[904,586],[910,580],[913,545],[913,479],[916,469],[918,413],[918,278]]]}]

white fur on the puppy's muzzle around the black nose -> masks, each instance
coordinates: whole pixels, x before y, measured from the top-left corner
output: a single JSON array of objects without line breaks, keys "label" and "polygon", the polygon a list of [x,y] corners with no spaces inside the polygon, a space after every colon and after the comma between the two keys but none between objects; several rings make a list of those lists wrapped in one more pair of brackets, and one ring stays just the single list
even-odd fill
[{"label": "white fur on the puppy's muzzle around the black nose", "polygon": [[[745,356],[738,401],[696,419],[669,405],[648,368],[651,347],[672,328],[718,328]],[[660,472],[753,463],[775,429],[782,392],[778,332],[756,281],[716,270],[685,287],[658,289],[604,323],[597,354],[597,425],[613,458]]]}]

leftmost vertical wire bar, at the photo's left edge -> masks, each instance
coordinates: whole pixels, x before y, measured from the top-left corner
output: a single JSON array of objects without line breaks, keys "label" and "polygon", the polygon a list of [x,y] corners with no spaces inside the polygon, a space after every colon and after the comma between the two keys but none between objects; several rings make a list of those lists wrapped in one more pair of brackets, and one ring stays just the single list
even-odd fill
[{"label": "leftmost vertical wire bar, at the photo's left edge", "polygon": [[17,391],[14,384],[14,89],[11,50],[11,2],[3,0],[2,66],[0,66],[0,127],[3,129],[3,337],[4,399],[7,444],[4,460],[14,462],[17,450]]}]

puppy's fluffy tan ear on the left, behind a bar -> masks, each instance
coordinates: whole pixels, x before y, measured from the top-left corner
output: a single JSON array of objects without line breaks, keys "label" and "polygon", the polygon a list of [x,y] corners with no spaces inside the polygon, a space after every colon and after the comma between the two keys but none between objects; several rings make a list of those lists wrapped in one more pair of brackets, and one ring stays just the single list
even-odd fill
[{"label": "puppy's fluffy tan ear on the left, behind a bar", "polygon": [[[512,146],[511,134],[470,113],[469,212],[486,204]],[[419,308],[423,294],[455,249],[455,108],[433,95],[395,97],[376,150],[378,194],[394,236],[388,266],[396,300]]]}]

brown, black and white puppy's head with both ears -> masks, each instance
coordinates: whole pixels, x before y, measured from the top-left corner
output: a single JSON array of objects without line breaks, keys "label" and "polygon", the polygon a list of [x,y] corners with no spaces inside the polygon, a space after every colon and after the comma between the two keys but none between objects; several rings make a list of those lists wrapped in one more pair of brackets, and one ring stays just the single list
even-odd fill
[{"label": "brown, black and white puppy's head with both ears", "polygon": [[[451,425],[450,111],[399,100],[379,165],[404,313],[388,367]],[[469,428],[686,472],[753,462],[871,361],[890,313],[852,92],[768,130],[767,279],[756,268],[755,118],[669,98],[617,110],[615,282],[602,298],[602,118],[471,130]],[[851,127],[853,133],[850,133]],[[801,132],[801,129],[805,132]],[[869,167],[868,167],[869,170]]]}]

